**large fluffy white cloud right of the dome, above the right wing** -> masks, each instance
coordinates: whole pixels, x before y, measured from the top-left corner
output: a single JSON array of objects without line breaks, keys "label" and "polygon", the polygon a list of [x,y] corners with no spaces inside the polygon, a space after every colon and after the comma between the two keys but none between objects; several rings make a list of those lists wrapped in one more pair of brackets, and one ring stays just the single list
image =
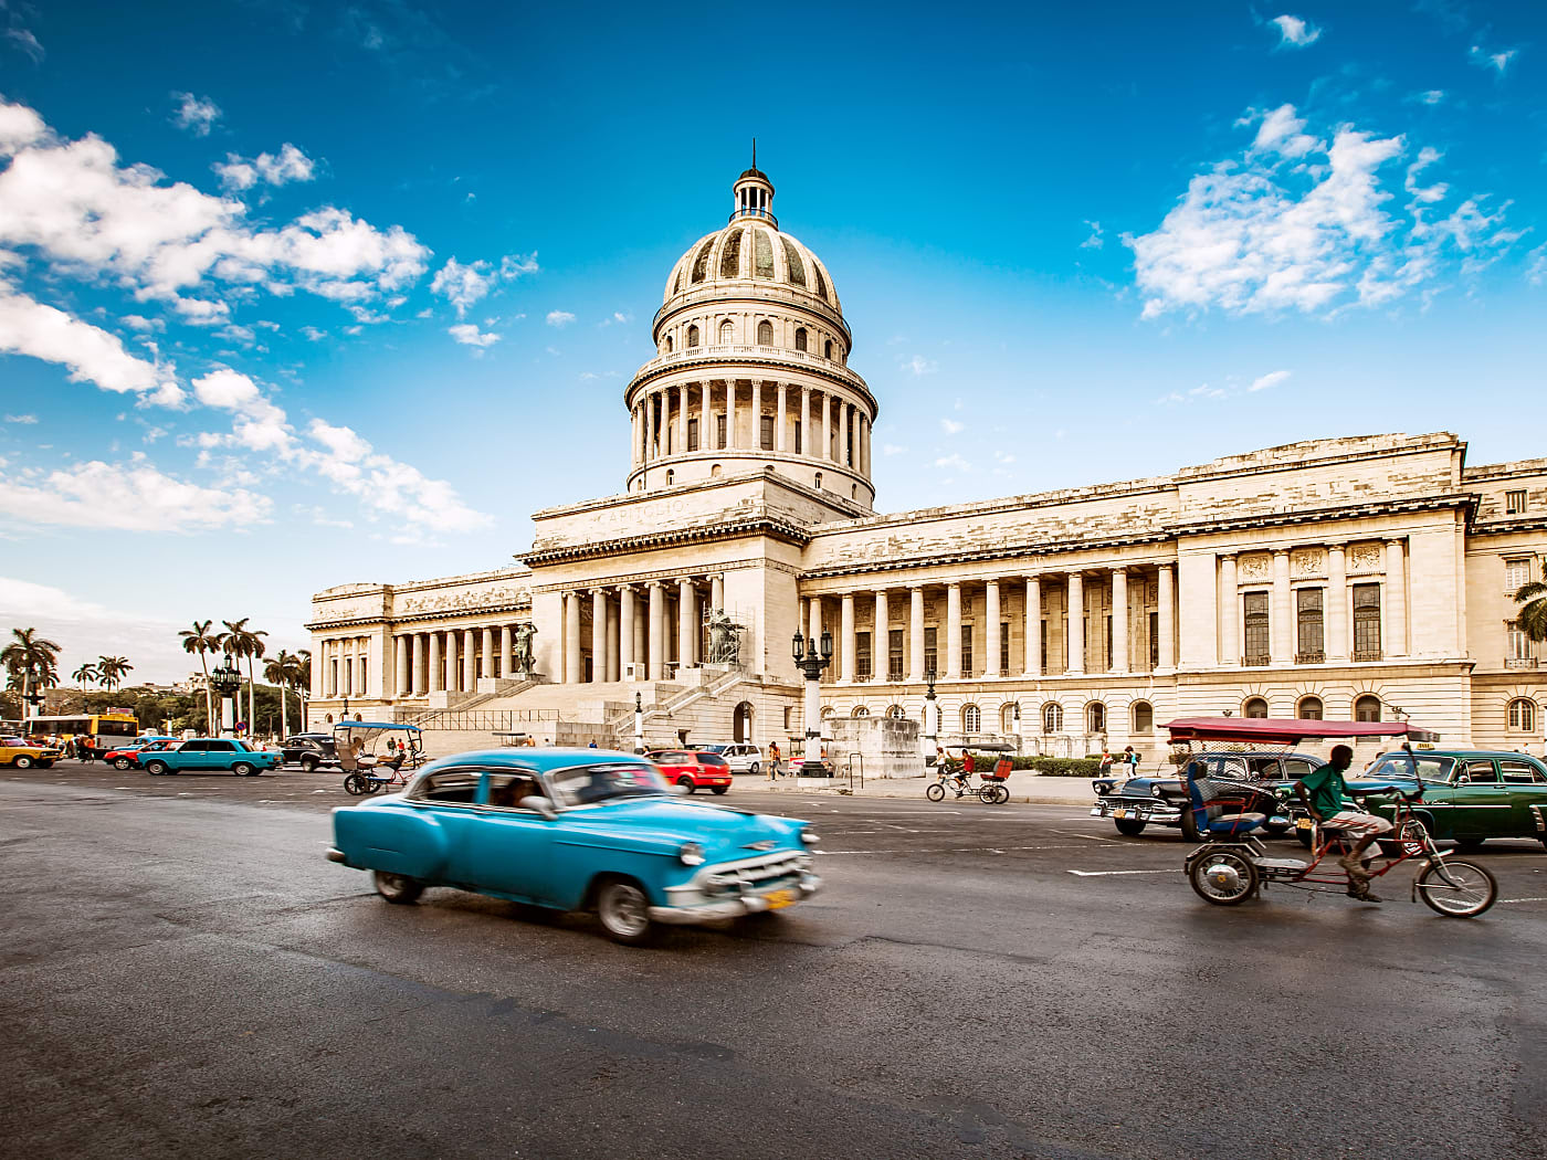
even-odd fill
[{"label": "large fluffy white cloud right of the dome, above the right wing", "polygon": [[[1303,136],[1299,118],[1284,105],[1264,124],[1275,118],[1284,131],[1272,148],[1253,144],[1196,175],[1159,229],[1123,238],[1134,251],[1143,317],[1378,306],[1439,278],[1448,255],[1468,257],[1470,246],[1477,255],[1465,269],[1476,269],[1518,237],[1501,227],[1502,209],[1484,213],[1480,200],[1433,223],[1419,209],[1408,218],[1391,215],[1386,203],[1395,195],[1385,169],[1406,152],[1405,138],[1344,125],[1330,145],[1318,141],[1293,158],[1282,145]],[[1420,167],[1426,164],[1420,153]]]}]

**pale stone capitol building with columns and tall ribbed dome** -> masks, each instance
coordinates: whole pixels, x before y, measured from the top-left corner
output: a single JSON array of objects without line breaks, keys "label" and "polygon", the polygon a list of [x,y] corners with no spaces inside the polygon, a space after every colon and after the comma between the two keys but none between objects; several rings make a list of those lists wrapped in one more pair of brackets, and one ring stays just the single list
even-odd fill
[{"label": "pale stone capitol building with columns and tall ribbed dome", "polygon": [[756,169],[667,274],[651,337],[622,490],[537,512],[514,566],[312,597],[311,727],[627,745],[637,694],[653,745],[798,753],[800,629],[834,642],[825,719],[922,721],[933,676],[947,744],[1153,759],[1168,719],[1228,711],[1542,752],[1510,592],[1541,575],[1547,459],[1369,435],[879,513],[880,401]]}]

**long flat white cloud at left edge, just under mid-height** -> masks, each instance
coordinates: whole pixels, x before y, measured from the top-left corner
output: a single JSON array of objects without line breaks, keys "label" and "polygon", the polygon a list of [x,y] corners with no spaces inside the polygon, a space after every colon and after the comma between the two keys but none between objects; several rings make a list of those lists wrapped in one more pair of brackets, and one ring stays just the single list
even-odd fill
[{"label": "long flat white cloud at left edge, just under mid-height", "polygon": [[138,453],[127,464],[93,459],[46,473],[23,469],[0,479],[0,515],[31,524],[193,532],[261,523],[269,509],[261,495],[176,479]]}]

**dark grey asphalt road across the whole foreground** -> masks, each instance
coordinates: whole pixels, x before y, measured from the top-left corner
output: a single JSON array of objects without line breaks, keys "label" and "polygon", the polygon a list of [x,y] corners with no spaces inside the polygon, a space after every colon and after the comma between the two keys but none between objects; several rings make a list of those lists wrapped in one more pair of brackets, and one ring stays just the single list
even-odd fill
[{"label": "dark grey asphalt road across the whole foreground", "polygon": [[322,857],[348,801],[0,772],[0,1155],[1544,1154],[1536,843],[1485,848],[1505,902],[1470,922],[1221,909],[1170,832],[743,783],[820,823],[828,889],[640,951],[382,903]]}]

